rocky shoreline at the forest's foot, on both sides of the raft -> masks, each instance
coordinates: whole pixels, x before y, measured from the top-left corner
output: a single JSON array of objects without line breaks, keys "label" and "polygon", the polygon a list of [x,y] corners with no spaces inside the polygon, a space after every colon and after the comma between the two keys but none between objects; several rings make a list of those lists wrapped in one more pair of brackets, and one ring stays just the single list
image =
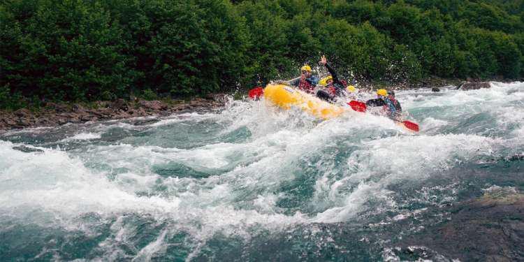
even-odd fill
[{"label": "rocky shoreline at the forest's foot, on both sides of the raft", "polygon": [[[495,81],[495,80],[494,80]],[[394,85],[393,90],[432,88],[439,92],[441,87],[454,86],[456,89],[490,88],[488,82],[465,82],[459,80],[443,80],[436,78],[423,82],[422,85]],[[377,83],[361,83],[364,89],[383,88],[387,85]],[[88,105],[82,103],[45,103],[36,111],[21,108],[15,111],[0,110],[0,132],[36,127],[61,126],[64,124],[82,124],[85,122],[129,119],[133,117],[167,116],[182,112],[198,112],[215,110],[224,107],[226,94],[212,94],[206,98],[193,98],[190,101],[167,99],[163,101],[147,101],[136,99],[126,101],[96,101]]]}]

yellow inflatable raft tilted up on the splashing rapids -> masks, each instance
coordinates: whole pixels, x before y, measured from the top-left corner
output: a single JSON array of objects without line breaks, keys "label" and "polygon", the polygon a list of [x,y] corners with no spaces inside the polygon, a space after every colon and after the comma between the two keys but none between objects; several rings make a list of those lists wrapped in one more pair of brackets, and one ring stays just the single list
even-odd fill
[{"label": "yellow inflatable raft tilted up on the splashing rapids", "polygon": [[316,96],[287,85],[268,85],[264,89],[264,98],[266,103],[277,105],[279,108],[289,109],[296,106],[322,119],[337,117],[345,111],[340,106],[322,101]]}]

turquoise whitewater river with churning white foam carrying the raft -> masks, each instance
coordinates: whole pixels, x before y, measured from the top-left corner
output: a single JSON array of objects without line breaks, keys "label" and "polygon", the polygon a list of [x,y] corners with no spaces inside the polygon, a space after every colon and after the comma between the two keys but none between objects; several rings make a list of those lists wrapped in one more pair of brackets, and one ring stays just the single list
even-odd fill
[{"label": "turquoise whitewater river with churning white foam carrying the raft", "polygon": [[491,85],[398,92],[417,134],[247,100],[0,133],[0,261],[454,259],[417,239],[524,190],[524,83]]}]

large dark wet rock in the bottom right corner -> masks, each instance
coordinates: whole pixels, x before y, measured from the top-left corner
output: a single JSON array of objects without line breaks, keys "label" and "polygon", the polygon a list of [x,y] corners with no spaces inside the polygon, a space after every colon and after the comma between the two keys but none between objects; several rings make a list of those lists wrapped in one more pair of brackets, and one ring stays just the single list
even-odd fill
[{"label": "large dark wet rock in the bottom right corner", "polygon": [[402,241],[460,261],[524,261],[524,194],[490,190],[449,210],[451,219]]}]

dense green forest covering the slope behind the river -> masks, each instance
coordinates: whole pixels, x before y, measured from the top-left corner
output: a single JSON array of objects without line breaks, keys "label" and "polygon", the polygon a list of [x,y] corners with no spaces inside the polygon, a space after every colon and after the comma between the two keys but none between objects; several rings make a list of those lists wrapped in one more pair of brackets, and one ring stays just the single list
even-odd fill
[{"label": "dense green forest covering the slope behind the river", "polygon": [[519,0],[3,0],[0,107],[182,97],[317,67],[350,80],[524,75]]}]

